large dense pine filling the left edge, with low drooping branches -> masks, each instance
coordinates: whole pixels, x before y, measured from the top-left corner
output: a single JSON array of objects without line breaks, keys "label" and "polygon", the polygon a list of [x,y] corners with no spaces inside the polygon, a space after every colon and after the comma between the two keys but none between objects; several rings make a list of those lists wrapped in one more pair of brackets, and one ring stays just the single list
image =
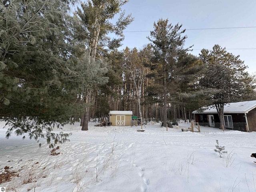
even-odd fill
[{"label": "large dense pine filling the left edge, with low drooping branches", "polygon": [[6,138],[14,132],[64,142],[68,134],[53,134],[52,127],[84,108],[77,94],[86,72],[72,39],[70,2],[0,2],[0,115],[10,126]]}]

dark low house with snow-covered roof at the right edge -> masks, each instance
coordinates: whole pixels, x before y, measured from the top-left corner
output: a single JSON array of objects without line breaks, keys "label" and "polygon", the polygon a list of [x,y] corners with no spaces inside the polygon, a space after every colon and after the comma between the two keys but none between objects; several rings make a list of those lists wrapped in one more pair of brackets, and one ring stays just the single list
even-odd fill
[{"label": "dark low house with snow-covered roof at the right edge", "polygon": [[[192,114],[199,125],[220,128],[216,108],[196,110]],[[256,131],[256,101],[226,104],[224,106],[224,127],[230,130]]]}]

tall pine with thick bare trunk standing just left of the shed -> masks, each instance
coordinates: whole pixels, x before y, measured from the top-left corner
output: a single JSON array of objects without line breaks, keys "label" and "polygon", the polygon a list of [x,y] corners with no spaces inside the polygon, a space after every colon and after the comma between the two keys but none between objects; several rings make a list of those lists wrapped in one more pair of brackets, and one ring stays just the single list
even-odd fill
[{"label": "tall pine with thick bare trunk standing just left of the shed", "polygon": [[[124,39],[123,30],[133,20],[131,15],[125,17],[124,12],[121,12],[121,7],[127,2],[128,0],[87,0],[77,8],[75,16],[80,25],[77,26],[76,36],[84,41],[92,62],[104,55],[105,48],[114,50],[121,46]],[[119,12],[121,12],[120,17],[113,24],[111,20]],[[107,36],[109,33],[114,33],[117,38],[111,39]],[[86,90],[88,107],[85,110],[84,121],[81,122],[82,130],[88,130],[90,106],[93,103],[92,94],[95,91]]]}]

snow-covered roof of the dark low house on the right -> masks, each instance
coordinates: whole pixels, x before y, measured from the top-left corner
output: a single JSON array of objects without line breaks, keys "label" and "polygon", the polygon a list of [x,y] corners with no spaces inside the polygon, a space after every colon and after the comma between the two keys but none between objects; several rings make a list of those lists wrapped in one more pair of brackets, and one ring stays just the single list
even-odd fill
[{"label": "snow-covered roof of the dark low house on the right", "polygon": [[[250,110],[253,110],[254,108],[256,108],[256,100],[228,103],[224,106],[224,113],[248,113]],[[195,110],[192,113],[217,113],[217,110],[215,107],[209,107],[206,110]]]}]

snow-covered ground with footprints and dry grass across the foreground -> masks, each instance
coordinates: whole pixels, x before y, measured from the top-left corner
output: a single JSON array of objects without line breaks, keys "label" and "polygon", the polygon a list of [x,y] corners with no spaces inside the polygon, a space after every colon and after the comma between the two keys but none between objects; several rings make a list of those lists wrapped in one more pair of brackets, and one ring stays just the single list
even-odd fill
[{"label": "snow-covered ground with footprints and dry grass across the foreground", "polygon": [[[256,192],[256,132],[201,126],[201,132],[143,126],[66,125],[70,142],[50,155],[41,140],[5,138],[0,124],[0,174],[4,167],[18,177],[0,184],[6,192]],[[55,130],[54,132],[60,132]],[[218,156],[216,140],[227,153]]]}]

